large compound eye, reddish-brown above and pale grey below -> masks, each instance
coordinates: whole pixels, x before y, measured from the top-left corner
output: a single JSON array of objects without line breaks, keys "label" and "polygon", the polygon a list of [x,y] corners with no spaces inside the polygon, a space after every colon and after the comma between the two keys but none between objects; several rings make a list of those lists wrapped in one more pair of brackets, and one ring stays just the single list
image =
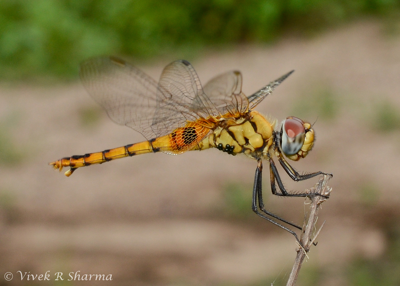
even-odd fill
[{"label": "large compound eye, reddish-brown above and pale grey below", "polygon": [[305,139],[304,122],[297,117],[288,117],[282,124],[280,147],[286,155],[300,151]]}]

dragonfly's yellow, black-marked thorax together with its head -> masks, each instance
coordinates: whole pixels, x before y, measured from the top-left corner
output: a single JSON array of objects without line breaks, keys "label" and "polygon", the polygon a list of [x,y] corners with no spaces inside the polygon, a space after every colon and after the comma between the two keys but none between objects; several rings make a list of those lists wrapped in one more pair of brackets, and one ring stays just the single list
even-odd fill
[{"label": "dragonfly's yellow, black-marked thorax together with its head", "polygon": [[280,132],[275,131],[277,120],[250,111],[239,118],[216,123],[193,150],[215,147],[231,155],[245,154],[253,159],[269,159],[272,155],[298,161],[307,156],[314,145],[314,130],[310,123],[288,117]]}]

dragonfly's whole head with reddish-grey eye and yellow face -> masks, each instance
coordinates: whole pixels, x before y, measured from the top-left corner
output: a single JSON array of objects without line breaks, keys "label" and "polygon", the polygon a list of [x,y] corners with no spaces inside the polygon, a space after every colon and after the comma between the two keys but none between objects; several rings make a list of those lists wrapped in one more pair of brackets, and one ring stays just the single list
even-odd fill
[{"label": "dragonfly's whole head with reddish-grey eye and yellow face", "polygon": [[289,159],[298,161],[307,156],[314,145],[314,130],[311,124],[300,118],[289,116],[280,129],[280,149]]}]

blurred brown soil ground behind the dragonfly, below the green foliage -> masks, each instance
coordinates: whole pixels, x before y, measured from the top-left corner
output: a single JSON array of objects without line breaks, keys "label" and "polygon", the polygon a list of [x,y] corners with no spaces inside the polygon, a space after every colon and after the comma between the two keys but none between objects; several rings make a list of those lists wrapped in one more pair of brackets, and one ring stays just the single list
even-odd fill
[{"label": "blurred brown soil ground behind the dragonfly, below the green foliage", "polygon": [[[141,66],[158,79],[169,61]],[[400,133],[374,129],[375,109],[389,102],[400,110],[400,38],[382,25],[359,22],[318,38],[272,46],[210,52],[192,61],[205,83],[232,69],[243,75],[246,95],[291,69],[290,76],[257,110],[279,119],[314,104],[310,95],[329,90],[336,116],[302,113],[317,142],[293,166],[332,172],[331,198],[318,246],[304,267],[326,267],[320,285],[346,285],[340,267],[354,257],[376,258],[386,249],[382,225],[400,217]],[[321,97],[315,100],[321,100]],[[0,87],[0,120],[22,161],[0,165],[0,285],[24,285],[17,271],[41,274],[80,271],[112,274],[113,281],[62,285],[255,285],[285,281],[296,256],[295,239],[251,211],[228,215],[226,185],[251,187],[256,162],[218,150],[180,156],[146,154],[78,169],[70,178],[47,163],[142,141],[137,132],[101,114],[92,125],[80,112],[98,109],[80,83],[51,88],[26,84]],[[301,112],[300,112],[301,113]],[[299,116],[300,116],[299,115]],[[301,224],[303,199],[273,198],[264,168],[268,208]],[[303,190],[317,179],[294,184]],[[365,189],[377,190],[365,202]],[[5,272],[14,274],[11,282]],[[25,281],[26,282],[26,281]],[[29,284],[29,283],[26,283]],[[56,281],[32,285],[61,285]],[[31,285],[31,284],[29,284]],[[301,285],[301,284],[299,284]]]}]

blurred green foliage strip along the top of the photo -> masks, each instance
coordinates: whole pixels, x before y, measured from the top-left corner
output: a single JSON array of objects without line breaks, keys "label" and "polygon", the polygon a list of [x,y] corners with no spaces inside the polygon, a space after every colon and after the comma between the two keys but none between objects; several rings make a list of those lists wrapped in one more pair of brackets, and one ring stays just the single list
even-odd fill
[{"label": "blurred green foliage strip along the top of the photo", "polygon": [[149,59],[270,42],[399,7],[397,0],[0,0],[0,78],[74,77],[91,56]]}]

